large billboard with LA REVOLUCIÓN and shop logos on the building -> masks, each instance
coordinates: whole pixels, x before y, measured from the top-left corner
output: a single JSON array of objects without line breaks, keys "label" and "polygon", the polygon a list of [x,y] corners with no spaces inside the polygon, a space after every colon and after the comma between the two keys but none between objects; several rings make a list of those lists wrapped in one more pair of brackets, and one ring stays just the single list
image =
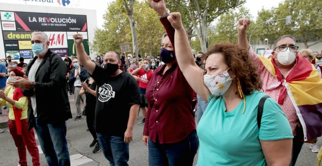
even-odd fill
[{"label": "large billboard with LA REVOLUCI\u00d3N and shop logos on the building", "polygon": [[49,49],[61,57],[76,55],[73,34],[81,33],[89,55],[86,15],[0,11],[4,52],[12,59],[33,58],[31,34],[43,31]]}]

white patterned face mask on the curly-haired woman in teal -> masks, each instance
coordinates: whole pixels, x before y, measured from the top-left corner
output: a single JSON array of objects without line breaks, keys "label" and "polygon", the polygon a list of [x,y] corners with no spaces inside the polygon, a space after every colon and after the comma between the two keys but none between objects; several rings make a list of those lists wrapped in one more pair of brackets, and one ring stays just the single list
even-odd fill
[{"label": "white patterned face mask on the curly-haired woman in teal", "polygon": [[203,81],[212,95],[221,96],[229,88],[232,79],[226,70],[213,76],[206,74],[203,76]]}]

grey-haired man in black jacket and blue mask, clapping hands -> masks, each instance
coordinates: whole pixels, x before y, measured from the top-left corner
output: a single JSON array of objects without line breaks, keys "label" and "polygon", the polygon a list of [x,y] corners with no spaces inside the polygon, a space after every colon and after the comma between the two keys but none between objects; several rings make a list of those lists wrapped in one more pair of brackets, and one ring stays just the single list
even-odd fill
[{"label": "grey-haired man in black jacket and blue mask, clapping hands", "polygon": [[27,67],[28,79],[15,77],[17,81],[8,84],[21,88],[22,94],[30,97],[29,130],[35,127],[47,164],[69,166],[65,121],[72,114],[65,90],[67,68],[60,56],[48,49],[49,43],[45,33],[33,32],[31,49],[35,57]]}]

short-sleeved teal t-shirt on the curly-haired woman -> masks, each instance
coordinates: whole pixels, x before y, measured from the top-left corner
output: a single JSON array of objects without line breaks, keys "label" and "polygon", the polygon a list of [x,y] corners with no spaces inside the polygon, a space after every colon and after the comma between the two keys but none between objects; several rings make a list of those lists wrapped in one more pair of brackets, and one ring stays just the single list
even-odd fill
[{"label": "short-sleeved teal t-shirt on the curly-haired woman", "polygon": [[293,134],[280,105],[272,98],[265,101],[260,131],[257,109],[266,94],[254,91],[244,103],[229,112],[222,97],[209,99],[198,124],[200,149],[197,166],[266,166],[259,139],[292,139]]}]

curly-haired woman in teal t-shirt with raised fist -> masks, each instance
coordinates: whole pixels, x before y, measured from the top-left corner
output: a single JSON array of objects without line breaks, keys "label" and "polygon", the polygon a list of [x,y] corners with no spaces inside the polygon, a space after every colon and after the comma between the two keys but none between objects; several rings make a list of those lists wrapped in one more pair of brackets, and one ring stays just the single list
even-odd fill
[{"label": "curly-haired woman in teal t-shirt with raised fist", "polygon": [[196,65],[180,13],[168,20],[176,29],[175,53],[190,86],[209,102],[197,128],[200,141],[198,166],[288,166],[292,130],[281,107],[268,98],[260,129],[257,110],[265,96],[260,76],[247,50],[223,42],[205,56],[206,74]]}]

